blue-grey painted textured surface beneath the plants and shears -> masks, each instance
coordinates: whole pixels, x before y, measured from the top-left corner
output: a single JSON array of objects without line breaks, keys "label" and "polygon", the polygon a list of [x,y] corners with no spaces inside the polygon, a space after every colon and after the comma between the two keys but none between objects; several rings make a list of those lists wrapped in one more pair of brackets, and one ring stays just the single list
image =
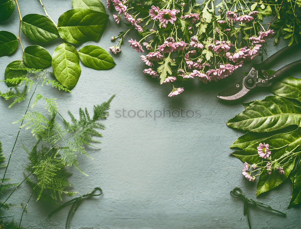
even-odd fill
[{"label": "blue-grey painted textured surface beneath the plants and shears", "polygon": [[[57,21],[58,17],[71,9],[71,0],[45,0],[48,14]],[[43,14],[39,1],[19,1],[22,15]],[[112,13],[110,13],[112,14]],[[18,17],[14,11],[12,17],[0,24],[1,30],[17,34]],[[125,26],[116,25],[110,17],[107,30],[98,42],[108,50],[112,45],[111,36],[124,31]],[[135,38],[135,35],[132,35]],[[23,45],[33,45],[21,34]],[[52,55],[60,39],[42,44]],[[268,54],[285,46],[272,47],[269,43]],[[118,56],[114,56],[117,65],[108,71],[96,71],[82,65],[82,74],[72,94],[58,92],[44,86],[39,93],[46,97],[57,98],[61,114],[67,116],[67,109],[77,113],[79,107],[92,109],[116,93],[110,116],[103,123],[104,137],[101,150],[89,149],[94,160],[80,157],[80,165],[89,176],[72,169],[70,177],[74,187],[71,190],[84,194],[94,187],[101,187],[103,195],[87,198],[75,213],[71,228],[101,229],[197,229],[197,228],[247,228],[247,218],[243,215],[243,201],[230,196],[235,187],[241,187],[244,193],[256,199],[256,185],[249,183],[241,175],[243,164],[231,157],[229,146],[241,135],[230,129],[226,121],[239,112],[243,106],[239,103],[219,101],[216,94],[241,79],[242,72],[248,71],[251,63],[245,64],[231,77],[219,83],[208,85],[187,83],[185,92],[180,96],[168,98],[169,85],[160,86],[142,73],[145,68],[132,48],[125,45]],[[1,76],[5,67],[21,57],[21,49],[9,57],[0,59]],[[290,58],[280,61],[275,70],[296,59],[300,52],[292,53]],[[259,59],[255,60],[258,62]],[[51,71],[51,69],[50,69]],[[294,74],[299,77],[300,72]],[[5,91],[5,83],[0,84]],[[268,92],[251,94],[244,102],[262,99]],[[199,118],[118,118],[119,110],[200,110]],[[0,102],[1,141],[5,155],[9,155],[19,125],[12,124],[21,118],[25,104],[8,108],[8,102]],[[131,111],[133,112],[133,111]],[[130,113],[133,115],[133,113]],[[175,114],[176,115],[176,114]],[[200,115],[198,115],[200,116]],[[22,130],[20,140],[12,157],[8,177],[16,182],[23,178],[23,165],[27,156],[20,143],[30,147],[33,139],[29,131]],[[300,207],[286,210],[290,200],[289,181],[271,192],[262,194],[258,200],[270,204],[273,208],[287,213],[287,217],[251,207],[250,217],[253,228],[296,229],[301,223]],[[28,184],[23,184],[11,198],[11,202],[27,202],[30,195]],[[69,198],[65,198],[67,201]],[[64,228],[68,208],[47,215],[54,207],[46,202],[29,202],[28,212],[22,225],[31,229]],[[7,212],[8,219],[20,220],[22,209],[13,208]]]}]

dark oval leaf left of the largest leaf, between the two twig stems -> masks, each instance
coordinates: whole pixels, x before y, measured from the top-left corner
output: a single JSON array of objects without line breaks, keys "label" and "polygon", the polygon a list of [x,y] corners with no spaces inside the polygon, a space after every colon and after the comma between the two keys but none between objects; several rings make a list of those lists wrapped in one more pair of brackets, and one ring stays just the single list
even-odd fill
[{"label": "dark oval leaf left of the largest leaf, between the two twig stems", "polygon": [[33,41],[48,42],[59,37],[57,27],[41,14],[27,14],[22,18],[21,29]]}]

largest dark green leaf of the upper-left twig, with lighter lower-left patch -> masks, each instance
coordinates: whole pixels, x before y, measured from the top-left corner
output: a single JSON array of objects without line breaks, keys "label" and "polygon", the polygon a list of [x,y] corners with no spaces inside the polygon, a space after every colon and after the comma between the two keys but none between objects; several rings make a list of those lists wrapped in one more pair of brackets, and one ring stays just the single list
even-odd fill
[{"label": "largest dark green leaf of the upper-left twig, with lighter lower-left patch", "polygon": [[72,44],[97,41],[104,33],[108,14],[87,8],[75,8],[58,19],[58,31],[62,39]]}]

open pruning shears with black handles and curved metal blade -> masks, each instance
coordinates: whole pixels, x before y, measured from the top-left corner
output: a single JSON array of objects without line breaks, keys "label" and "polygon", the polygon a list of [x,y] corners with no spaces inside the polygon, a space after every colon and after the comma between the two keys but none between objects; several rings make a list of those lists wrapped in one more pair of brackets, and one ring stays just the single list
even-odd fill
[{"label": "open pruning shears with black handles and curved metal blade", "polygon": [[272,83],[281,79],[281,77],[287,76],[293,71],[301,69],[301,60],[298,60],[293,63],[287,64],[271,75],[269,75],[266,71],[276,61],[279,61],[289,53],[295,52],[298,48],[301,48],[301,45],[287,46],[274,53],[262,63],[254,64],[249,74],[247,74],[247,76],[245,76],[243,80],[218,93],[217,97],[228,101],[237,100],[244,97],[245,95],[247,95],[247,93],[255,88],[271,86]]}]

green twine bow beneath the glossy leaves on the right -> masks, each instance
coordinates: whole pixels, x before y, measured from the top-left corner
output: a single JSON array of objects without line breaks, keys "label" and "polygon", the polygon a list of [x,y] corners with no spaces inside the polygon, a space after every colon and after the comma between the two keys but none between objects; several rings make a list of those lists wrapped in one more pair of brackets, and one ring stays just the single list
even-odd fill
[{"label": "green twine bow beneath the glossy leaves on the right", "polygon": [[282,215],[286,215],[285,213],[283,212],[280,212],[278,210],[275,210],[275,209],[272,209],[270,205],[267,205],[267,204],[264,204],[264,203],[261,203],[261,202],[258,202],[258,201],[255,201],[253,199],[249,199],[247,196],[245,196],[243,194],[243,191],[240,189],[240,188],[234,188],[231,192],[230,192],[230,195],[235,197],[235,198],[238,198],[238,197],[242,197],[244,198],[244,215],[247,215],[247,219],[248,219],[248,224],[249,224],[249,228],[251,229],[251,222],[250,222],[250,218],[249,218],[249,212],[248,212],[248,205],[249,205],[249,202],[250,203],[253,203],[255,204],[257,207],[262,207],[262,208],[266,208],[266,209],[269,209],[269,210],[272,210],[274,212],[278,212]]}]

